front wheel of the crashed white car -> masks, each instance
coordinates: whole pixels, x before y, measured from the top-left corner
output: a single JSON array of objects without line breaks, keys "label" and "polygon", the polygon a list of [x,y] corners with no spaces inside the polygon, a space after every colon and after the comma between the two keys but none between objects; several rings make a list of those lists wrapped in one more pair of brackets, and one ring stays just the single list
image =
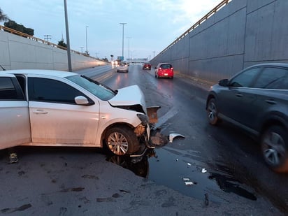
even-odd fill
[{"label": "front wheel of the crashed white car", "polygon": [[140,147],[133,129],[126,126],[108,129],[105,141],[108,149],[116,155],[132,154]]}]

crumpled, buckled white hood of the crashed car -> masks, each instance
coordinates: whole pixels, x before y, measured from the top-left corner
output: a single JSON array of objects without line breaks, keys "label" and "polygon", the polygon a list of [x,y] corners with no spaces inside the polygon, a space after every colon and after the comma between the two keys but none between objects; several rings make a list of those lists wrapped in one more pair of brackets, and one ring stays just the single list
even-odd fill
[{"label": "crumpled, buckled white hood of the crashed car", "polygon": [[111,106],[141,106],[147,114],[145,97],[138,85],[131,85],[117,90],[117,94],[109,100]]}]

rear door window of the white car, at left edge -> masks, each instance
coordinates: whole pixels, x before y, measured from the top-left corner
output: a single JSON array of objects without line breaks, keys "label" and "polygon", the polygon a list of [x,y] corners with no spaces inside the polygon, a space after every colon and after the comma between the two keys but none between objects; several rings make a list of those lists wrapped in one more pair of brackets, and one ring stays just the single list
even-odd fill
[{"label": "rear door window of the white car, at left edge", "polygon": [[19,90],[17,91],[12,78],[0,77],[0,101],[19,101],[23,99],[24,96],[20,94]]}]

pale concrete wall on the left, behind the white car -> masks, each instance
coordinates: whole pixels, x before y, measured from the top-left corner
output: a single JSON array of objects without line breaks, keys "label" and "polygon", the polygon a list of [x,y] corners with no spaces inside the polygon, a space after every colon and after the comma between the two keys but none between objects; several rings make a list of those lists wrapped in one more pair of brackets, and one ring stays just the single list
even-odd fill
[{"label": "pale concrete wall on the left, behind the white car", "polygon": [[[72,70],[105,65],[71,52]],[[0,31],[0,65],[4,69],[52,69],[68,71],[67,51],[22,36]]]}]

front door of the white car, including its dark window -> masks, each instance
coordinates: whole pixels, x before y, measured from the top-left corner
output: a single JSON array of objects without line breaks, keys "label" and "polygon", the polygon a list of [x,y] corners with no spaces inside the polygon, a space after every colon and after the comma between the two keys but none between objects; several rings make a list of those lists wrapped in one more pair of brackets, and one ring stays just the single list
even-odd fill
[{"label": "front door of the white car, including its dark window", "polygon": [[75,96],[88,96],[64,80],[29,77],[28,82],[33,143],[94,146],[98,101],[91,106],[76,104]]}]

